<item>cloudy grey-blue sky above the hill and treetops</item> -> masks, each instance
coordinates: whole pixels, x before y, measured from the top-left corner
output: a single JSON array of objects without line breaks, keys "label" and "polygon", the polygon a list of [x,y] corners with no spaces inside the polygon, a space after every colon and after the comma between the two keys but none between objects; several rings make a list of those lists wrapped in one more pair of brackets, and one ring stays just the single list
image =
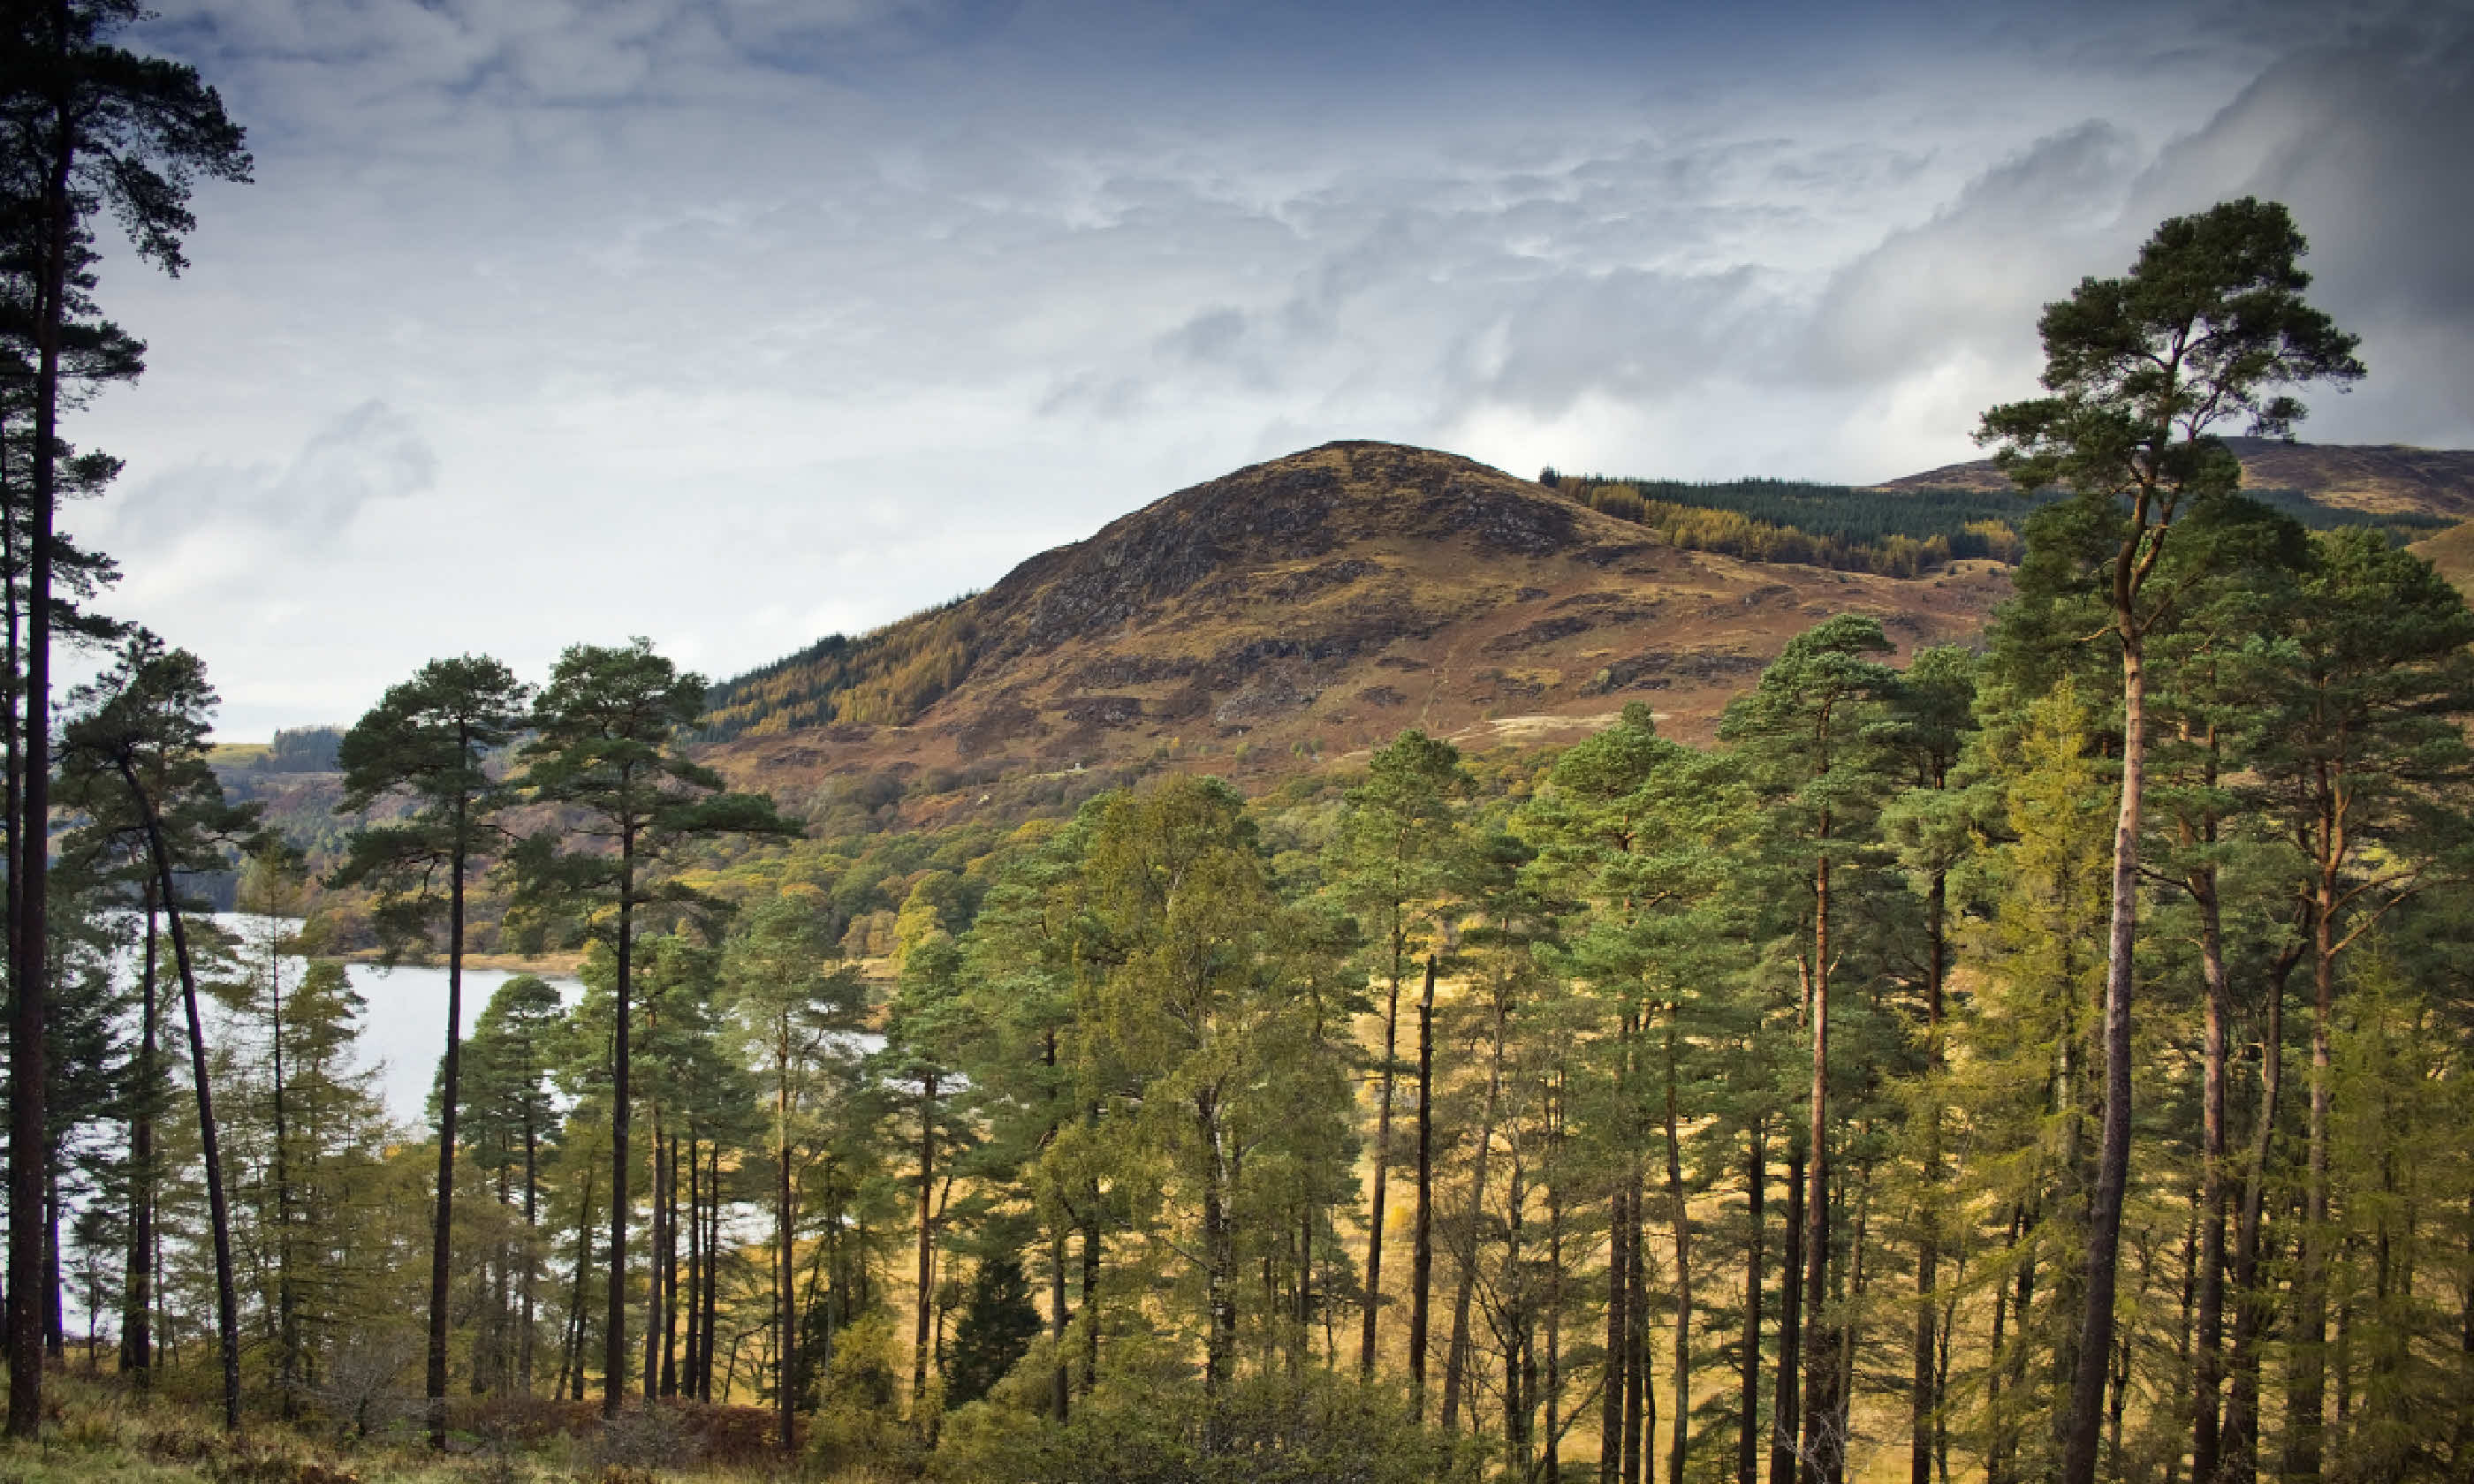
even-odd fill
[{"label": "cloudy grey-blue sky above the hill and treetops", "polygon": [[2286,200],[2474,445],[2464,2],[158,0],[255,181],[99,302],[64,527],[220,730],[443,653],[725,678],[1331,438],[1658,477],[1974,455],[2036,312]]}]

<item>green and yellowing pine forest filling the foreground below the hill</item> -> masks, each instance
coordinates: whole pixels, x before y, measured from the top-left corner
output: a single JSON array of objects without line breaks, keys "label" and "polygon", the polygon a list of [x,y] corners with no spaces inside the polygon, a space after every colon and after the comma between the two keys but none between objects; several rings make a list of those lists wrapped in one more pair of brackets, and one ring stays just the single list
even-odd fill
[{"label": "green and yellowing pine forest filling the foreground below the hill", "polygon": [[[2044,312],[1974,646],[901,831],[732,789],[651,641],[218,769],[59,527],[143,364],[96,232],[176,272],[250,173],[131,17],[0,35],[0,1477],[2474,1477],[2474,613],[2217,438],[2365,373],[2281,205]],[[346,927],[448,970],[413,1125]],[[485,927],[579,984],[465,1034]]]}]

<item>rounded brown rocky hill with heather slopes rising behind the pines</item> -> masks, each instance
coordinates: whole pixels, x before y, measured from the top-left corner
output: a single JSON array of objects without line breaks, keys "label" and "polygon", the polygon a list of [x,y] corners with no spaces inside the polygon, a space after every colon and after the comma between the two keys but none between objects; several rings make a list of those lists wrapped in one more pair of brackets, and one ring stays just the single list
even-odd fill
[{"label": "rounded brown rocky hill with heather slopes rising behind the pines", "polygon": [[717,685],[708,742],[742,782],[878,789],[910,816],[1009,774],[1272,777],[1410,725],[1571,740],[1628,700],[1705,737],[1813,621],[1954,641],[2006,586],[1992,561],[1893,579],[1690,552],[1467,458],[1329,443]]}]

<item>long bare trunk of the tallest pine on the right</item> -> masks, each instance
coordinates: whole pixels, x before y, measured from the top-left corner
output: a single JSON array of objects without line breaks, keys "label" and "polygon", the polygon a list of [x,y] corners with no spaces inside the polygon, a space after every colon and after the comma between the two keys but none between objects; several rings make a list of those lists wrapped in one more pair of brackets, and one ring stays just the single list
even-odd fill
[{"label": "long bare trunk of the tallest pine on the right", "polygon": [[2061,1484],[2095,1484],[2105,1420],[2105,1358],[2113,1355],[2113,1286],[2130,1187],[2130,967],[2140,920],[2140,804],[2147,779],[2147,663],[2120,599],[2123,628],[2123,799],[2113,826],[2113,932],[2105,945],[2105,1133],[2088,1200],[2088,1264]]}]

